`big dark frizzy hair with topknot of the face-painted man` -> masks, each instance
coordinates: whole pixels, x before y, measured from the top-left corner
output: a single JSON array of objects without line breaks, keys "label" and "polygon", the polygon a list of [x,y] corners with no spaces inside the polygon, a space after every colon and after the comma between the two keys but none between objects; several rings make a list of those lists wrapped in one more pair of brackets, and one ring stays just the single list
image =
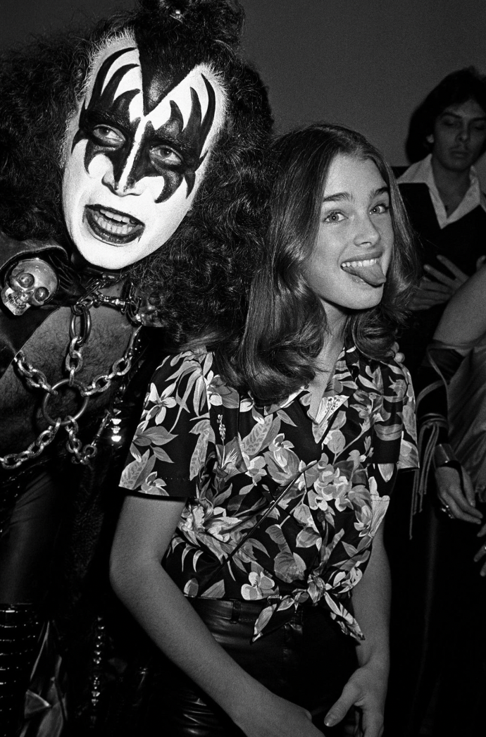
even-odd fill
[{"label": "big dark frizzy hair with topknot of the face-painted man", "polygon": [[261,255],[272,116],[256,71],[239,55],[243,11],[234,0],[145,0],[133,12],[0,56],[0,225],[18,239],[68,245],[62,145],[96,52],[133,33],[169,72],[209,63],[228,96],[227,117],[189,214],[159,251],[127,270],[175,343],[233,335]]}]

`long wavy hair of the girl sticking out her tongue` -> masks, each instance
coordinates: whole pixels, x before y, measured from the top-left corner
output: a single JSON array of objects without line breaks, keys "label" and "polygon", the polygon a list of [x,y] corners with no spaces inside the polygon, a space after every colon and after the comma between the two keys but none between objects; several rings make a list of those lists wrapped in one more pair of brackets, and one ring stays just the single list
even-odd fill
[{"label": "long wavy hair of the girl sticking out her tongue", "polygon": [[317,240],[329,167],[339,154],[370,159],[390,188],[395,240],[383,298],[376,307],[350,311],[345,326],[345,335],[364,356],[390,357],[417,278],[415,245],[398,186],[381,153],[364,136],[337,125],[311,125],[281,136],[275,154],[267,259],[253,280],[232,377],[264,404],[297,391],[317,373],[326,318],[306,281],[305,266]]}]

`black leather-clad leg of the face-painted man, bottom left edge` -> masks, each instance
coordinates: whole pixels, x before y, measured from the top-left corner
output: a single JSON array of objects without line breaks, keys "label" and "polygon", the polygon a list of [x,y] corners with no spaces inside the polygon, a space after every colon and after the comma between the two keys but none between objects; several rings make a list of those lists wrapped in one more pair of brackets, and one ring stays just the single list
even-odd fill
[{"label": "black leather-clad leg of the face-painted man, bottom left edge", "polygon": [[42,631],[62,494],[32,469],[2,485],[0,514],[0,737],[14,737]]}]

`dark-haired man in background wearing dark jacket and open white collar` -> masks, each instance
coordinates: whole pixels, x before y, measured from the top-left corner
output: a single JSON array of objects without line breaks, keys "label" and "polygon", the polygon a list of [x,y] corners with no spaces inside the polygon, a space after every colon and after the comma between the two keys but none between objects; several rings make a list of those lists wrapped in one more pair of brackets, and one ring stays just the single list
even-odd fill
[{"label": "dark-haired man in background wearing dark jacket and open white collar", "polygon": [[473,67],[448,74],[413,113],[395,170],[418,236],[424,274],[400,338],[412,379],[443,308],[486,254],[486,197],[473,165],[486,150],[486,77]]}]

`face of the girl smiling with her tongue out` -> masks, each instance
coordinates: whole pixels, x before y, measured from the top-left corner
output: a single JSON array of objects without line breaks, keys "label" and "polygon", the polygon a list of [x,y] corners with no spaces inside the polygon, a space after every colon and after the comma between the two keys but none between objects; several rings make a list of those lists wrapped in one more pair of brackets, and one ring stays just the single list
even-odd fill
[{"label": "face of the girl smiling with her tongue out", "polygon": [[306,279],[329,321],[375,307],[393,248],[390,193],[371,159],[338,154],[325,183]]}]

